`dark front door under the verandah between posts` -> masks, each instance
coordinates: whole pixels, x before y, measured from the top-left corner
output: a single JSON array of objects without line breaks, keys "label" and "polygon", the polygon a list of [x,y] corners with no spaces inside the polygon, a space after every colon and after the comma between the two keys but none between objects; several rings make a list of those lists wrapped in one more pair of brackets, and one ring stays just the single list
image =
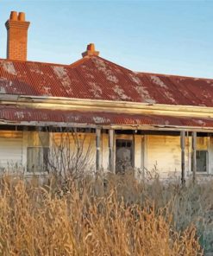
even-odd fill
[{"label": "dark front door under the verandah between posts", "polygon": [[124,173],[133,168],[133,141],[116,139],[116,173]]}]

